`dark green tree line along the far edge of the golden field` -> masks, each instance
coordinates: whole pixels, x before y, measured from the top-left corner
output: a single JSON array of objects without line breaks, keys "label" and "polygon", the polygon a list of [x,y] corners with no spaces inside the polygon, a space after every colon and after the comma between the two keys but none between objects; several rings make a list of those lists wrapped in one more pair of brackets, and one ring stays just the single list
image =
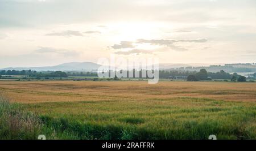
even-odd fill
[{"label": "dark green tree line along the far edge of the golden field", "polygon": [[[133,71],[135,72],[135,70]],[[68,77],[68,76],[95,76],[97,77],[97,72],[62,72],[62,71],[43,71],[37,72],[32,70],[2,70],[0,71],[0,75],[23,75],[29,77]],[[238,75],[237,73],[229,74],[224,70],[220,72],[207,72],[205,69],[201,69],[199,72],[196,71],[182,71],[182,70],[160,70],[159,78],[161,79],[170,79],[171,76],[184,76],[188,77],[188,80],[196,81],[196,80],[211,80],[211,79],[223,79],[223,80],[232,80],[238,81],[245,78],[243,76]],[[256,77],[256,73],[252,76]],[[139,71],[139,77],[142,77],[142,70]]]}]

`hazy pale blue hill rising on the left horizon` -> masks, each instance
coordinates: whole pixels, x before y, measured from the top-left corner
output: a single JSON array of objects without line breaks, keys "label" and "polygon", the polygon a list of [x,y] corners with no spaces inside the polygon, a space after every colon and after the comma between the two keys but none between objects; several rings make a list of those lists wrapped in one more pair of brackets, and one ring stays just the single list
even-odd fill
[{"label": "hazy pale blue hill rising on the left horizon", "polygon": [[101,65],[92,62],[69,62],[57,66],[46,67],[17,67],[3,68],[1,70],[35,70],[35,71],[94,71]]}]

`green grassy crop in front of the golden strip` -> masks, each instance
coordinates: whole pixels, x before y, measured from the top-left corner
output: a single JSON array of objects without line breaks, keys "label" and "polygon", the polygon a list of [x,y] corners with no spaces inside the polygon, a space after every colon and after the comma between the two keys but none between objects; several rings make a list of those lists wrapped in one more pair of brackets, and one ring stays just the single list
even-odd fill
[{"label": "green grassy crop in front of the golden strip", "polygon": [[50,102],[22,105],[41,114],[57,139],[256,139],[253,103],[207,98]]}]

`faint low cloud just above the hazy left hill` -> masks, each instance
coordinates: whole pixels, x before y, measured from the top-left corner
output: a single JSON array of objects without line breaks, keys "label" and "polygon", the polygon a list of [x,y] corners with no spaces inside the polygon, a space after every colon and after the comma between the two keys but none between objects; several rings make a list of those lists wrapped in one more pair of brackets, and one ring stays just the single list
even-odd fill
[{"label": "faint low cloud just above the hazy left hill", "polygon": [[67,50],[67,49],[55,49],[55,48],[49,48],[49,47],[40,47],[39,49],[35,50],[34,53],[39,54],[62,54],[64,56],[76,56],[79,55],[76,51],[73,50]]}]

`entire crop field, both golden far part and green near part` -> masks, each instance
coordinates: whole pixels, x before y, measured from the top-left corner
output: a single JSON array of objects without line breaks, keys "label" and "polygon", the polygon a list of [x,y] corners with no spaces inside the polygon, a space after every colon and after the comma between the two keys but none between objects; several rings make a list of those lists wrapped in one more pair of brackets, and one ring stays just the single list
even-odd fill
[{"label": "entire crop field, both golden far part and green near part", "polygon": [[47,139],[256,139],[256,83],[0,81],[0,90],[40,117]]}]

